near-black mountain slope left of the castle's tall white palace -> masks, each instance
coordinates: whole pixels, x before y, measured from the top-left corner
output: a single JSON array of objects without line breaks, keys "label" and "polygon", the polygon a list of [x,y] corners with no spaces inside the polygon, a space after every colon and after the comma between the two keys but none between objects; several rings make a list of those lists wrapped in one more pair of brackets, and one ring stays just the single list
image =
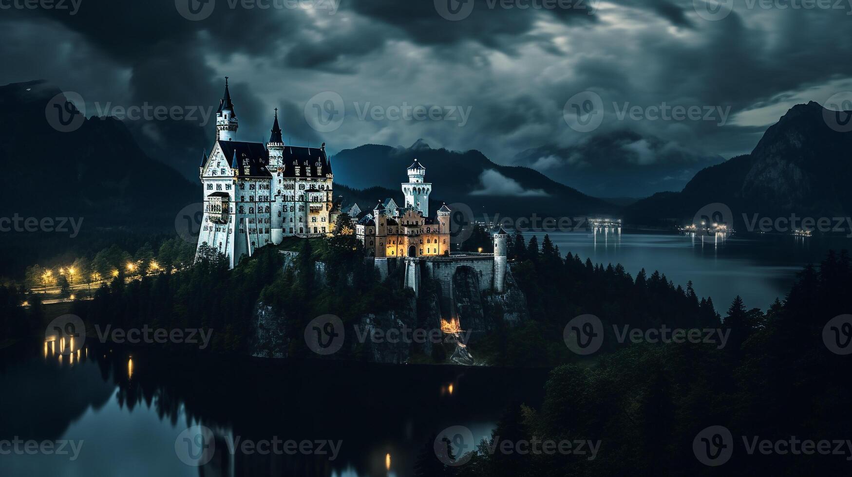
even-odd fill
[{"label": "near-black mountain slope left of the castle's tall white palace", "polygon": [[[79,122],[61,132],[55,115],[66,105]],[[121,121],[80,114],[43,81],[0,87],[5,209],[38,220],[82,217],[90,230],[174,229],[177,212],[199,202],[199,186],[147,157]]]}]

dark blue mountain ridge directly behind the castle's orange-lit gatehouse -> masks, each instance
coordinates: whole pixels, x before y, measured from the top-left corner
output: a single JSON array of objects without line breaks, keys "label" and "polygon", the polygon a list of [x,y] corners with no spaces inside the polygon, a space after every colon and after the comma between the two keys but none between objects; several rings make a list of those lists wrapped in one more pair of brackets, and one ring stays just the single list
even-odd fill
[{"label": "dark blue mountain ridge directly behind the castle's orange-lit gatehouse", "polygon": [[[433,184],[432,198],[447,204],[467,204],[477,219],[481,214],[530,217],[612,214],[618,206],[593,198],[551,180],[536,170],[492,163],[481,152],[433,149],[423,140],[412,147],[365,145],[346,149],[332,158],[335,181],[354,189],[383,187],[402,204],[400,183],[417,158]],[[384,198],[384,197],[378,197]],[[361,204],[366,209],[371,204]]]}]

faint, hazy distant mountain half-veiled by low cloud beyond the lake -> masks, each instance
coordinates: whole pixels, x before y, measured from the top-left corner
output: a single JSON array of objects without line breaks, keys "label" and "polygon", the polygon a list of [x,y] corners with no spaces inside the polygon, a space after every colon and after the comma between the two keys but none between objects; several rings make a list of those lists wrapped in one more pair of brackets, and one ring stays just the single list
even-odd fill
[{"label": "faint, hazy distant mountain half-veiled by low cloud beyond the lake", "polygon": [[515,154],[526,166],[595,197],[648,197],[681,190],[695,173],[724,162],[675,141],[619,129],[584,137],[572,146],[535,147]]}]

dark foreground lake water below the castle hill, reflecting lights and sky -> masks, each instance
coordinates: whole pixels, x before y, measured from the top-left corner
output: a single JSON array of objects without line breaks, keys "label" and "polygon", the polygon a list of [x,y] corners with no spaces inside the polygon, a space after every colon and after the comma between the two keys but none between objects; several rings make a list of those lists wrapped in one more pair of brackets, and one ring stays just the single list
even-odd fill
[{"label": "dark foreground lake water below the castle hill, reflecting lights and sky", "polygon": [[[15,438],[82,441],[74,461],[70,444],[68,455],[0,455],[4,477],[405,477],[418,456],[437,458],[444,429],[465,426],[479,440],[510,402],[540,405],[548,372],[98,346],[73,357],[41,345],[0,350],[0,451]],[[191,447],[207,436],[197,425],[210,429],[209,454]],[[257,447],[245,451],[245,441]]]}]

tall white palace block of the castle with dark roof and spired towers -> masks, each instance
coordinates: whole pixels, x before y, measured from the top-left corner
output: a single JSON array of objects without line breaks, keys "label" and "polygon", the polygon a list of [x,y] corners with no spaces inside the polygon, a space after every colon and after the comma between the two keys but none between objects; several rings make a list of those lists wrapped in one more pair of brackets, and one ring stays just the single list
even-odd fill
[{"label": "tall white palace block of the castle with dark roof and spired towers", "polygon": [[204,217],[199,247],[208,244],[233,267],[257,247],[283,237],[331,233],[334,175],[322,147],[285,144],[278,110],[267,144],[236,141],[237,115],[225,83],[216,112],[216,142],[199,168]]}]

